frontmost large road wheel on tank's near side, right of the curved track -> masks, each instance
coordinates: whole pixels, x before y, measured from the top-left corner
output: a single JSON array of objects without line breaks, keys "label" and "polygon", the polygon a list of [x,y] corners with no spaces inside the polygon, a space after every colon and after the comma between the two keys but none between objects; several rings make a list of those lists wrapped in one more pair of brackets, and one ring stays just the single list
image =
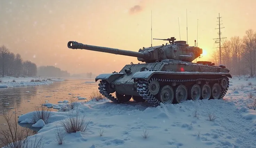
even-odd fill
[{"label": "frontmost large road wheel on tank's near side, right of the curved track", "polygon": [[174,99],[174,91],[169,85],[165,85],[159,92],[159,99],[163,104],[171,104]]}]

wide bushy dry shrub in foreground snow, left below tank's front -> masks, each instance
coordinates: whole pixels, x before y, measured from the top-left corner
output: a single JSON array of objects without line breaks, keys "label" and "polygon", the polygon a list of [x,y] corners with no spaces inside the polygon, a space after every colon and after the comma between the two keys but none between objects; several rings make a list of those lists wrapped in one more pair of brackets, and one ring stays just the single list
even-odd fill
[{"label": "wide bushy dry shrub in foreground snow, left below tank's front", "polygon": [[75,115],[73,116],[74,110],[69,110],[67,117],[60,121],[60,124],[67,133],[75,133],[78,131],[85,132],[88,129],[90,120],[86,122],[86,114],[80,117],[79,109],[77,108]]}]

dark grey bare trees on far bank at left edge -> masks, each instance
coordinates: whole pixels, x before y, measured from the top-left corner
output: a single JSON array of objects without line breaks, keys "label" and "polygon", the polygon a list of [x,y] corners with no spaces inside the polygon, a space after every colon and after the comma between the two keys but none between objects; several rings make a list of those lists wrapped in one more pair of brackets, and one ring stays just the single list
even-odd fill
[{"label": "dark grey bare trees on far bank at left edge", "polygon": [[35,76],[37,65],[29,60],[23,61],[20,54],[10,52],[6,46],[0,47],[0,75],[3,76]]}]

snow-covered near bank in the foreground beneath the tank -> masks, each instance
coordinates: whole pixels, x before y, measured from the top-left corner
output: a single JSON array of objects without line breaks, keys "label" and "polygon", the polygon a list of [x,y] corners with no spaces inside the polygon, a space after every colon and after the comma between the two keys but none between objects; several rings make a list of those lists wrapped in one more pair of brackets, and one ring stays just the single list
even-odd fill
[{"label": "snow-covered near bank in the foreground beneath the tank", "polygon": [[[251,82],[250,85],[248,82]],[[187,100],[182,104],[161,104],[147,107],[146,103],[115,104],[109,100],[90,100],[77,103],[73,110],[86,114],[89,121],[85,132],[64,132],[63,148],[256,148],[256,111],[246,108],[248,93],[256,93],[256,79],[237,77],[230,80],[230,88],[223,100]],[[256,96],[256,94],[255,94]],[[52,104],[50,104],[52,103]],[[57,102],[49,102],[54,106]],[[64,102],[58,106],[63,107]],[[194,117],[194,110],[198,110]],[[42,120],[34,127],[42,127],[44,146],[56,148],[56,124],[67,118],[67,111],[53,112],[48,123]],[[209,121],[208,113],[215,120]],[[19,117],[21,123],[31,123],[33,112]],[[102,136],[99,131],[104,130]],[[148,133],[143,138],[144,132]],[[35,135],[31,136],[34,140]]]}]

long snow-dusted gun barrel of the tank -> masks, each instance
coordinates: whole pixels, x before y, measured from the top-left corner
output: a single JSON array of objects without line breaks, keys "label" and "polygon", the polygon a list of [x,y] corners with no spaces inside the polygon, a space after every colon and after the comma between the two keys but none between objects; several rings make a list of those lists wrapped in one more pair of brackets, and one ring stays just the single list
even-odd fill
[{"label": "long snow-dusted gun barrel of the tank", "polygon": [[145,59],[150,58],[149,52],[135,52],[135,51],[120,50],[120,49],[108,48],[108,47],[99,47],[99,46],[93,46],[93,45],[86,45],[86,44],[78,43],[75,41],[69,41],[67,43],[67,47],[70,49],[86,49],[86,50],[107,52],[110,54],[139,57],[139,58],[145,58]]}]

